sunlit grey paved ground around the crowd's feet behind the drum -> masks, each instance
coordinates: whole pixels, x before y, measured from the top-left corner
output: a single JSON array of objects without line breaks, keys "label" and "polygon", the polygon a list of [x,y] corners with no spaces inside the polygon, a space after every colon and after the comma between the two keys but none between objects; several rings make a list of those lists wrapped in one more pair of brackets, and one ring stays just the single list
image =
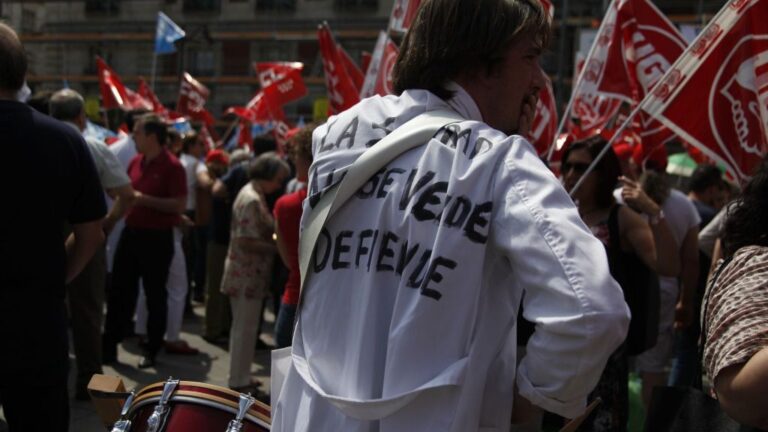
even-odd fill
[{"label": "sunlit grey paved ground around the crowd's feet behind the drum", "polygon": [[[202,334],[203,310],[202,306],[196,306],[194,308],[195,316],[185,318],[181,335],[182,339],[199,349],[200,354],[179,356],[162,353],[158,357],[156,367],[140,370],[136,368],[136,364],[139,361],[141,351],[135,340],[129,340],[124,342],[119,348],[118,359],[120,363],[114,366],[105,366],[104,374],[120,376],[128,390],[133,388],[141,389],[148,384],[164,381],[169,376],[226,387],[227,375],[229,373],[227,346],[212,345],[200,337]],[[274,314],[271,310],[267,310],[261,340],[270,345],[273,343],[273,322]],[[257,350],[254,363],[251,366],[253,377],[262,384],[261,390],[263,390],[262,393],[255,396],[264,402],[268,402],[269,399],[269,359],[270,352],[268,349]],[[70,360],[70,392],[74,395],[75,366],[72,355],[70,355]],[[70,432],[104,432],[107,430],[101,424],[91,402],[77,401],[72,397],[70,399],[70,410]],[[0,432],[5,432],[6,430],[3,415],[0,412]]]}]

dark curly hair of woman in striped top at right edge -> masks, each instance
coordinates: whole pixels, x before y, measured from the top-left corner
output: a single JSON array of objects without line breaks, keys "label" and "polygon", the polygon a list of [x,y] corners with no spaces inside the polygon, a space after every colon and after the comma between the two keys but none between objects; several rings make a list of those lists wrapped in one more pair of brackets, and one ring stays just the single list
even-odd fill
[{"label": "dark curly hair of woman in striped top at right edge", "polygon": [[744,246],[768,246],[768,156],[763,158],[741,197],[728,208],[723,228],[723,255],[733,256]]}]

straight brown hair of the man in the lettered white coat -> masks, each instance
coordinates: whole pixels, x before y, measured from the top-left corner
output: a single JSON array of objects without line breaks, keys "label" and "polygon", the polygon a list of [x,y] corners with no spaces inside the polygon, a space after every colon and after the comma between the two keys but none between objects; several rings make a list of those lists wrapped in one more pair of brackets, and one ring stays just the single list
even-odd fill
[{"label": "straight brown hair of the man in the lettered white coat", "polygon": [[493,71],[524,34],[537,37],[543,48],[550,25],[538,0],[425,0],[400,45],[395,94],[424,89],[447,100],[448,80]]}]

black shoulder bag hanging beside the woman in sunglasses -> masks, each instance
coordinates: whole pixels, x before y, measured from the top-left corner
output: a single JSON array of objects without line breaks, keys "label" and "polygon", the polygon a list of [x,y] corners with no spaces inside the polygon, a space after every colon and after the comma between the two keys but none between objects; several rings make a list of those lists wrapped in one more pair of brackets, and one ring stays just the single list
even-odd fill
[{"label": "black shoulder bag hanging beside the woman in sunglasses", "polygon": [[619,208],[608,216],[608,263],[611,276],[621,286],[632,320],[627,331],[627,354],[641,354],[656,345],[659,335],[659,276],[639,256],[621,250]]}]

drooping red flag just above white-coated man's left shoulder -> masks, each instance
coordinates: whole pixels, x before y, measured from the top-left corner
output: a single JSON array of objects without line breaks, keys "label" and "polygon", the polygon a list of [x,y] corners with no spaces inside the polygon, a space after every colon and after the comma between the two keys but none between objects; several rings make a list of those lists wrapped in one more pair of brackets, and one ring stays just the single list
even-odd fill
[{"label": "drooping red flag just above white-coated man's left shoulder", "polygon": [[328,110],[331,114],[338,114],[360,101],[359,92],[344,67],[342,54],[337,49],[336,42],[327,23],[318,26],[317,38],[320,43],[320,53],[323,56],[323,68],[325,69]]}]

